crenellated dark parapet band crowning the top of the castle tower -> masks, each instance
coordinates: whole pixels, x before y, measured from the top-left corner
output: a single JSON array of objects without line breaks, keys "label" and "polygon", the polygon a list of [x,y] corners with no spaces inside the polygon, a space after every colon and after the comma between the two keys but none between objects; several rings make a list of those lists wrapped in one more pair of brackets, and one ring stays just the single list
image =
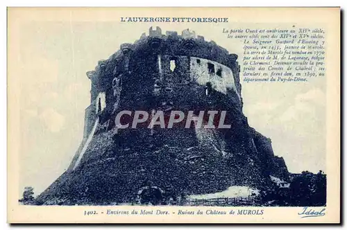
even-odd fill
[{"label": "crenellated dark parapet band crowning the top of the castle tower", "polygon": [[128,72],[129,63],[136,62],[136,60],[132,60],[134,57],[148,58],[151,55],[197,57],[222,64],[231,69],[238,94],[241,95],[237,55],[229,53],[226,48],[219,46],[214,41],[206,41],[203,36],[196,35],[195,31],[189,30],[189,28],[183,30],[179,35],[176,31],[166,31],[163,34],[159,26],[151,27],[148,35],[142,33],[133,44],[121,44],[119,50],[108,60],[99,61],[94,71],[87,72],[87,77],[92,82],[98,81],[98,78],[105,78],[105,76],[114,78],[121,72]]}]

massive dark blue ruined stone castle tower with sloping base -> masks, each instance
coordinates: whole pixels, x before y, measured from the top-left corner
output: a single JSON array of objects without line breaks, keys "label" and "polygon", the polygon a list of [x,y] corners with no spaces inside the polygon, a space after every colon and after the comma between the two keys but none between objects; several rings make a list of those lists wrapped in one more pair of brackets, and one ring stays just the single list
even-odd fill
[{"label": "massive dark blue ruined stone castle tower with sloping base", "polygon": [[[194,31],[159,27],[101,60],[91,80],[83,141],[71,165],[37,200],[41,204],[164,204],[230,186],[262,188],[270,175],[287,178],[271,140],[242,113],[237,55]],[[119,129],[124,110],[153,115],[173,110],[226,111],[230,129]],[[205,121],[205,120],[204,120]],[[127,122],[126,118],[122,122]],[[147,194],[144,196],[144,194]],[[144,198],[146,197],[146,198]]]}]

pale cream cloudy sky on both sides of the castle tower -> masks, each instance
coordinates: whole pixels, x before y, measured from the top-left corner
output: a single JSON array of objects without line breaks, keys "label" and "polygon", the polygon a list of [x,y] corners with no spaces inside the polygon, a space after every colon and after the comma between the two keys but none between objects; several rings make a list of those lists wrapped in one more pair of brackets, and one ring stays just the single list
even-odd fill
[{"label": "pale cream cloudy sky on both sides of the castle tower", "polygon": [[[242,60],[242,43],[226,39],[221,24],[132,25],[131,31],[128,24],[115,21],[22,25],[20,191],[33,186],[36,194],[41,193],[69,166],[83,136],[84,109],[90,104],[85,72],[115,53],[121,43],[148,34],[150,26],[160,26],[163,33],[191,28]],[[272,139],[275,154],[285,158],[289,171],[325,170],[324,78],[288,84],[242,82],[242,97],[248,123]]]}]

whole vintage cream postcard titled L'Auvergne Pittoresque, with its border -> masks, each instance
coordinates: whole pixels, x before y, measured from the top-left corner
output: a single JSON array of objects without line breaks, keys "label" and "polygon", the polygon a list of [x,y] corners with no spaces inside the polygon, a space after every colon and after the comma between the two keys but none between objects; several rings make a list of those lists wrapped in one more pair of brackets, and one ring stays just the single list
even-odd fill
[{"label": "whole vintage cream postcard titled L'Auvergne Pittoresque, with its border", "polygon": [[8,8],[8,222],[339,223],[339,8]]}]

